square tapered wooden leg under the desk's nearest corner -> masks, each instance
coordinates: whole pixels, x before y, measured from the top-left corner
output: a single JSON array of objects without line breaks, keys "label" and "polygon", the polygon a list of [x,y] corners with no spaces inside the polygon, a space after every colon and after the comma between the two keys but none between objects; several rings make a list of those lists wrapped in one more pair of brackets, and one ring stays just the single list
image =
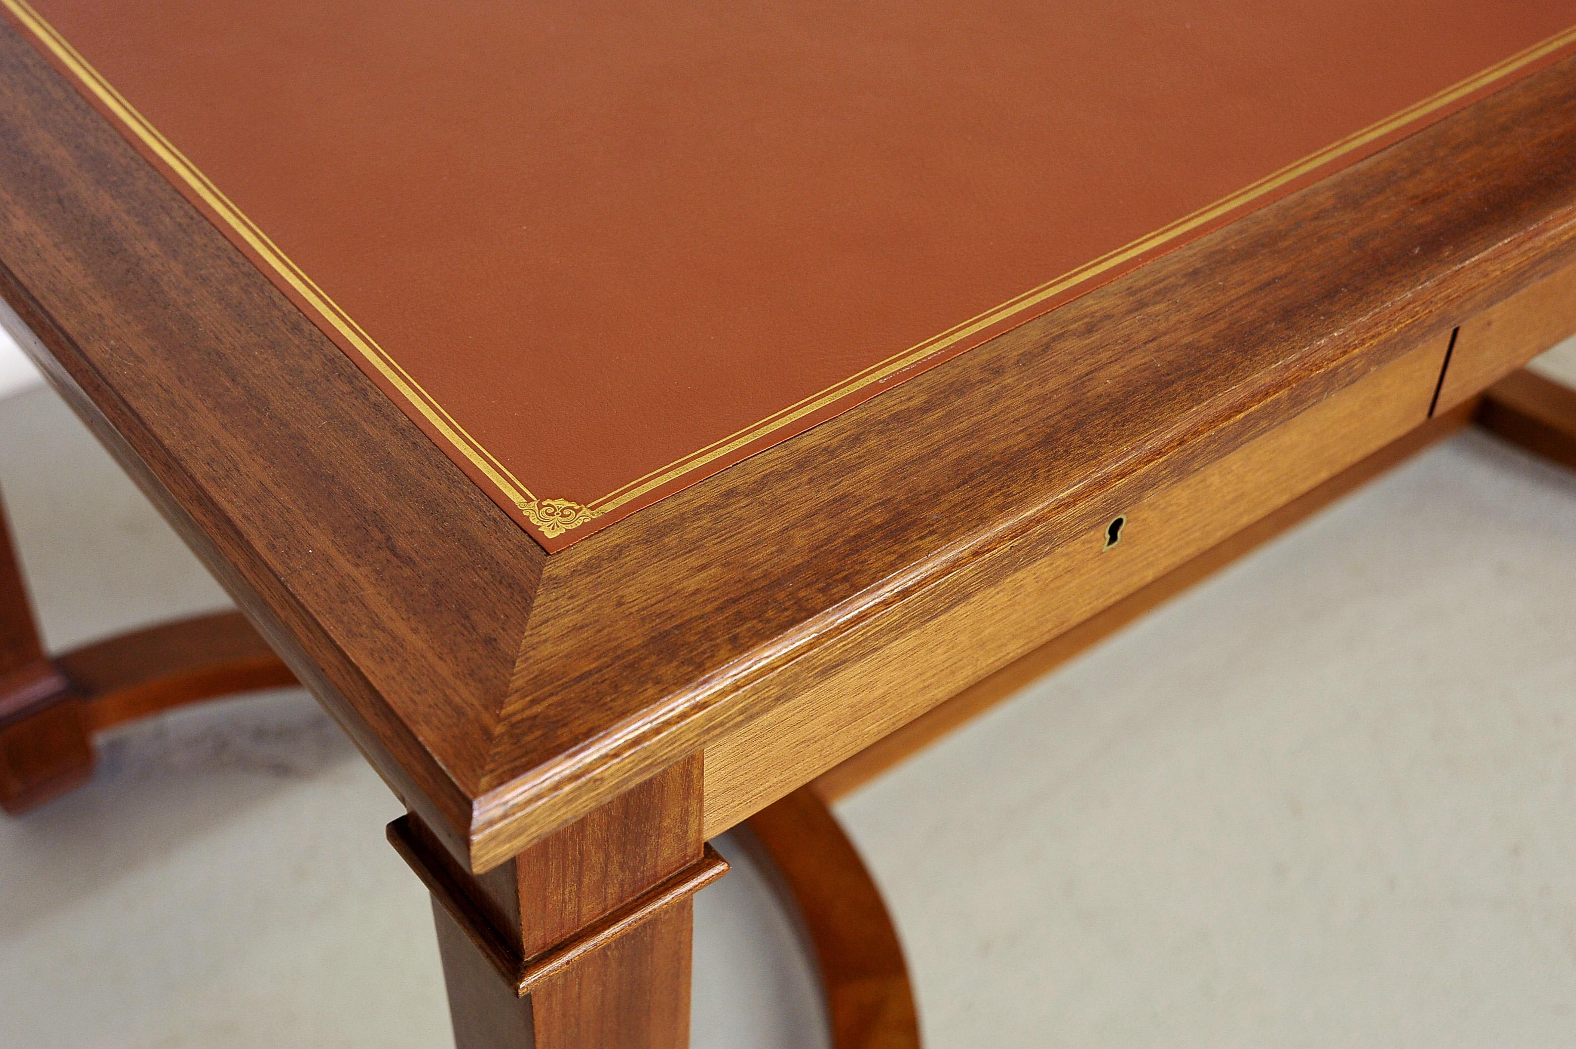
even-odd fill
[{"label": "square tapered wooden leg under the desk's nearest corner", "polygon": [[459,1049],[682,1049],[690,895],[727,871],[701,843],[701,759],[471,876],[413,816],[389,840],[433,893]]}]

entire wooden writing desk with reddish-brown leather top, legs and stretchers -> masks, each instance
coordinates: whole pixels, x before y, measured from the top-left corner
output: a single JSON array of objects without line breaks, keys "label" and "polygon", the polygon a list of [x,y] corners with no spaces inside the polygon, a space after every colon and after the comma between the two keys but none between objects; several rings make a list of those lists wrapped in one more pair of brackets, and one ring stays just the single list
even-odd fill
[{"label": "entire wooden writing desk with reddish-brown leather top, legs and stretchers", "polygon": [[1576,0],[35,2],[0,328],[241,611],[52,651],[0,507],[0,810],[299,682],[459,1049],[686,1049],[733,830],[826,1044],[919,1049],[835,799],[1467,422],[1576,468],[1524,370],[1576,334]]}]

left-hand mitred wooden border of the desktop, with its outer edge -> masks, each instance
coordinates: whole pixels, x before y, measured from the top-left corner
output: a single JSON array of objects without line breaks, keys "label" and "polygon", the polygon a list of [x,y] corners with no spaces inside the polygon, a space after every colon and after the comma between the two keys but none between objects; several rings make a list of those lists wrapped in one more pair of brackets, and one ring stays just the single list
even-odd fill
[{"label": "left-hand mitred wooden border of the desktop, with its outer edge", "polygon": [[8,328],[463,851],[541,548],[9,25],[0,142]]}]

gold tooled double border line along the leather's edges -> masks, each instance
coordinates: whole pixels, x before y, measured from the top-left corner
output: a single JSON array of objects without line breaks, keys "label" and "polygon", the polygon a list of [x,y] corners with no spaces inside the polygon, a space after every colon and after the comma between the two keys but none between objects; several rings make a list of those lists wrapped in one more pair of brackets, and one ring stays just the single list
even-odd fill
[{"label": "gold tooled double border line along the leather's edges", "polygon": [[0,0],[0,3],[3,3],[22,25],[32,30],[33,35],[38,36],[38,39],[49,49],[49,52],[63,66],[74,72],[110,113],[113,113],[154,156],[173,170],[214,214],[224,219],[230,228],[240,235],[247,247],[257,254],[258,258],[268,263],[285,280],[285,284],[293,288],[298,296],[301,296],[303,301],[317,310],[345,342],[355,347],[356,351],[361,353],[369,364],[372,364],[378,375],[381,375],[389,386],[399,391],[399,394],[421,413],[433,430],[443,435],[449,444],[465,455],[465,458],[478,471],[481,471],[484,477],[496,485],[496,488],[511,502],[514,502],[515,507],[519,507],[520,513],[531,521],[531,524],[539,528],[548,539],[556,539],[563,532],[596,520],[604,513],[630,502],[632,499],[638,499],[640,496],[648,495],[649,491],[660,488],[662,485],[676,480],[678,477],[692,473],[706,463],[760,441],[775,430],[790,427],[799,419],[821,411],[837,400],[870,386],[872,383],[884,381],[897,372],[919,364],[928,356],[942,353],[958,342],[969,339],[987,328],[1001,324],[1024,310],[1031,310],[1040,302],[1062,295],[1080,284],[1092,280],[1116,266],[1122,266],[1135,258],[1154,252],[1155,249],[1163,247],[1169,241],[1174,241],[1201,225],[1221,219],[1253,200],[1270,194],[1281,186],[1295,181],[1297,178],[1302,178],[1303,175],[1308,175],[1319,167],[1346,156],[1347,153],[1352,153],[1354,150],[1360,150],[1377,139],[1393,134],[1409,123],[1428,117],[1445,106],[1489,87],[1494,80],[1504,79],[1522,66],[1538,61],[1540,58],[1576,43],[1576,27],[1537,43],[1510,58],[1467,77],[1466,80],[1453,83],[1437,95],[1370,124],[1368,128],[1363,128],[1362,131],[1357,131],[1333,145],[1329,145],[1316,153],[1310,153],[1300,161],[1288,164],[1251,186],[1221,197],[1220,200],[1199,208],[1198,211],[1184,216],[1182,219],[1177,219],[1154,233],[1147,233],[1146,236],[1124,244],[1122,247],[1108,252],[1094,261],[1070,269],[1062,276],[1039,285],[1037,288],[1031,288],[1023,295],[979,313],[977,317],[971,317],[969,320],[955,324],[938,335],[931,335],[930,339],[873,364],[834,386],[812,394],[810,397],[805,397],[804,400],[761,419],[760,422],[714,441],[697,452],[673,460],[667,466],[660,466],[643,477],[637,477],[635,480],[615,488],[608,495],[593,499],[589,504],[580,504],[571,499],[542,499],[531,493],[531,490],[519,477],[515,477],[501,461],[498,461],[498,458],[482,447],[476,438],[466,433],[465,427],[449,416],[449,413],[430,394],[427,394],[427,391],[424,391],[421,384],[411,378],[411,375],[405,372],[405,369],[402,369],[399,362],[396,362],[394,358],[391,358],[388,351],[377,343],[377,340],[372,339],[372,335],[351,320],[350,315],[345,313],[345,310],[340,309],[326,291],[317,287],[317,284],[307,277],[299,266],[279,250],[268,235],[263,233],[249,217],[246,217],[246,214],[236,208],[235,203],[230,202],[230,198],[225,197],[219,187],[197,169],[195,164],[186,159],[186,156],[177,150],[169,139],[148,123],[148,120],[139,113],[137,109],[87,61],[87,58],[77,54],[65,36],[46,22],[43,16],[33,11],[27,0]]}]

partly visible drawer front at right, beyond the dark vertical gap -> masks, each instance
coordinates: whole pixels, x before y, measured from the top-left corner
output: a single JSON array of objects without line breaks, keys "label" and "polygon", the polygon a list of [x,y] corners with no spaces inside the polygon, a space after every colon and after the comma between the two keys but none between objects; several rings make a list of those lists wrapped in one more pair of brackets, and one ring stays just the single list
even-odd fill
[{"label": "partly visible drawer front at right, beyond the dark vertical gap", "polygon": [[1483,392],[1571,335],[1576,335],[1576,266],[1544,277],[1461,326],[1436,414]]}]

